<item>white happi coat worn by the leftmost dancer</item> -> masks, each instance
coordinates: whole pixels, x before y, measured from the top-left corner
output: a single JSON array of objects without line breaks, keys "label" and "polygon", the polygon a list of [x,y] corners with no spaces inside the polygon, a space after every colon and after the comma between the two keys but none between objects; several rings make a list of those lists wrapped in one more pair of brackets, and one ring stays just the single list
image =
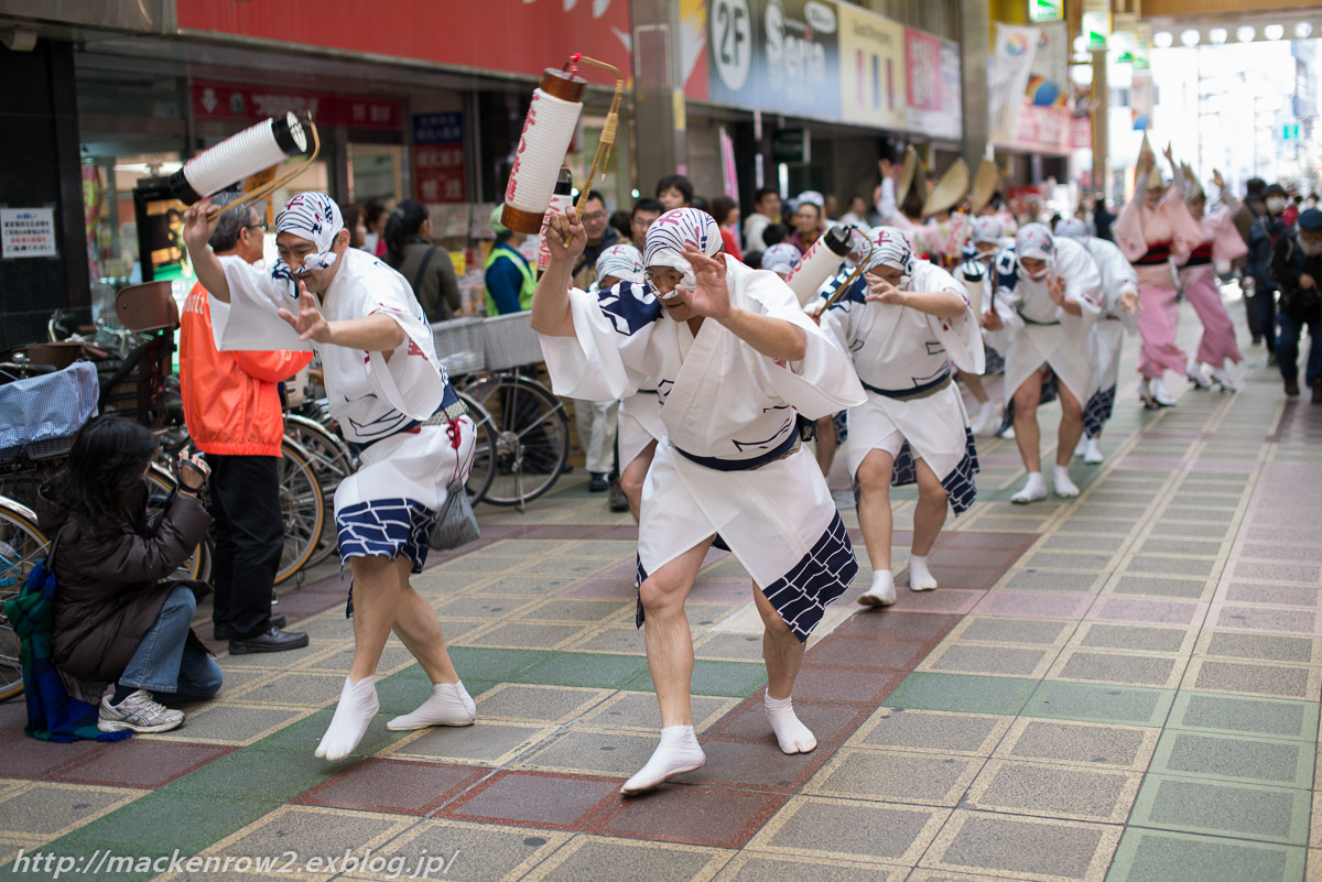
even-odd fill
[{"label": "white happi coat worn by the leftmost dancer", "polygon": [[215,345],[229,350],[312,350],[320,356],[330,416],[345,440],[371,445],[361,454],[362,467],[336,490],[337,522],[345,508],[382,500],[403,499],[408,508],[416,504],[439,511],[446,486],[465,477],[471,466],[472,423],[459,421],[457,449],[444,425],[401,432],[435,413],[447,392],[431,326],[398,272],[357,248],[348,248],[338,259],[342,263],[321,298],[321,313],[328,321],[390,316],[403,329],[405,342],[389,363],[381,353],[300,341],[275,312],[283,306],[297,313],[297,298],[286,293],[283,281],[239,257],[221,257],[230,302],[210,298]]}]

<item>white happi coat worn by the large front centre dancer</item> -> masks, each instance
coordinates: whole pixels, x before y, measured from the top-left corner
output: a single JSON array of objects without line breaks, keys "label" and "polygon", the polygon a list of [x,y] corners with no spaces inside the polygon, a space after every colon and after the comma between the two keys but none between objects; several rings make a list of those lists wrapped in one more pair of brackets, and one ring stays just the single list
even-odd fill
[{"label": "white happi coat worn by the large front centre dancer", "polygon": [[[648,287],[631,283],[600,296],[571,290],[576,335],[543,335],[542,353],[558,395],[625,397],[649,382],[658,390],[666,437],[642,487],[641,574],[719,532],[754,581],[768,589],[788,577],[839,518],[816,461],[796,444],[788,456],[758,469],[723,471],[676,448],[748,461],[797,433],[796,411],[816,420],[862,404],[865,395],[849,356],[802,313],[779,276],[724,260],[731,304],[804,330],[808,349],[801,362],[767,358],[714,320],[703,321],[694,337],[687,322],[661,314]],[[781,615],[806,638],[784,609]],[[820,609],[816,618],[809,614],[806,630],[820,617]]]}]

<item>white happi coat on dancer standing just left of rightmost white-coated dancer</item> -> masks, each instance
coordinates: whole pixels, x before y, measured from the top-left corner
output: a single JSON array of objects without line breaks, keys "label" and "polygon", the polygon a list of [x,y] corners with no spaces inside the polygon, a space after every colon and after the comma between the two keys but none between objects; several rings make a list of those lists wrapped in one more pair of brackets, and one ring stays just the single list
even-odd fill
[{"label": "white happi coat on dancer standing just left of rightmost white-coated dancer", "polygon": [[995,310],[1005,323],[999,331],[989,331],[988,342],[1005,353],[1005,400],[1009,404],[1015,391],[1043,364],[1048,366],[1062,383],[1079,399],[1088,400],[1096,362],[1096,334],[1093,326],[1101,313],[1101,273],[1088,251],[1058,236],[1056,257],[1051,273],[1063,276],[1066,297],[1083,309],[1081,316],[1071,316],[1051,300],[1047,281],[1032,281],[1019,272],[1014,248],[997,255]]}]

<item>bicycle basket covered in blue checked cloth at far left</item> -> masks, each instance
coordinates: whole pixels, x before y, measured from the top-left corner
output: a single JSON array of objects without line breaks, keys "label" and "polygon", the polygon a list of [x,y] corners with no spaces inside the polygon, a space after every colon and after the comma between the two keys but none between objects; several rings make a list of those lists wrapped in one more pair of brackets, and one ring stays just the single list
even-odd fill
[{"label": "bicycle basket covered in blue checked cloth at far left", "polygon": [[77,433],[97,412],[99,392],[90,362],[0,386],[0,454]]}]

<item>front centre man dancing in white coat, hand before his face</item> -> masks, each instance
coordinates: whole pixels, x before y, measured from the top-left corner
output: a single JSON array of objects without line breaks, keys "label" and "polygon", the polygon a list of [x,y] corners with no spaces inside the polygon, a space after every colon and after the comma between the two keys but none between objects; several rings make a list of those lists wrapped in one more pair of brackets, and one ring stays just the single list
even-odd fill
[{"label": "front centre man dancing in white coat, hand before his face", "polygon": [[715,220],[695,209],[668,211],[648,228],[645,285],[599,294],[570,289],[586,243],[572,209],[551,218],[546,238],[551,264],[533,298],[533,327],[557,393],[624,397],[652,382],[666,429],[639,526],[637,621],[646,622],[661,743],[623,792],[706,762],[693,730],[683,602],[718,532],[754,578],[771,728],[785,753],[813,750],[791,689],[804,642],[858,562],[797,417],[863,403],[849,356],[781,279],[724,255]]}]

